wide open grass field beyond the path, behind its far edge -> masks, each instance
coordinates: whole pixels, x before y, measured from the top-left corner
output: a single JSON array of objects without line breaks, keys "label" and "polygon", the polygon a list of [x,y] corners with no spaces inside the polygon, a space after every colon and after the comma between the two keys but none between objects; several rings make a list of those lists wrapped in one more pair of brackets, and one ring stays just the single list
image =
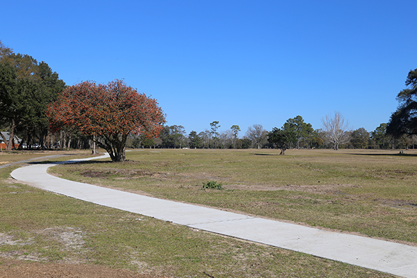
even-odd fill
[{"label": "wide open grass field beyond the path, behind its far edge", "polygon": [[[147,149],[51,169],[65,179],[417,243],[417,151]],[[203,189],[216,181],[224,190]]]}]

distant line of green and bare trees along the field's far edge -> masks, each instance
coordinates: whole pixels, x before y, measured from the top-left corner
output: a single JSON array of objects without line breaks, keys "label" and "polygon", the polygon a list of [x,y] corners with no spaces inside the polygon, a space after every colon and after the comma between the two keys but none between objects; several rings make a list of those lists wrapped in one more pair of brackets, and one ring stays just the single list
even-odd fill
[{"label": "distant line of green and bare trees along the field's far edge", "polygon": [[[336,113],[336,119],[342,117]],[[329,117],[328,117],[329,118]],[[324,118],[325,119],[325,118]],[[211,123],[211,129],[197,133],[181,125],[164,126],[158,138],[131,138],[129,147],[133,148],[164,148],[164,149],[393,149],[414,148],[417,137],[400,136],[395,138],[386,133],[387,124],[380,124],[375,131],[368,132],[359,128],[349,130],[313,129],[311,124],[304,122],[300,115],[286,120],[280,129],[271,131],[263,129],[261,124],[250,126],[245,135],[239,138],[240,127],[233,125],[225,131],[218,131],[220,122]]]}]

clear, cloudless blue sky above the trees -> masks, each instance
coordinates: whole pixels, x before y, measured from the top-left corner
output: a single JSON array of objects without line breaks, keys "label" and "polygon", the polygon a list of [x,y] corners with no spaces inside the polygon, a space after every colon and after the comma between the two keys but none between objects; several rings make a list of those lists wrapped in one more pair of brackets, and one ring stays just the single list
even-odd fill
[{"label": "clear, cloudless blue sky above the trees", "polygon": [[3,1],[0,40],[67,85],[124,81],[187,133],[388,122],[417,68],[417,1]]}]

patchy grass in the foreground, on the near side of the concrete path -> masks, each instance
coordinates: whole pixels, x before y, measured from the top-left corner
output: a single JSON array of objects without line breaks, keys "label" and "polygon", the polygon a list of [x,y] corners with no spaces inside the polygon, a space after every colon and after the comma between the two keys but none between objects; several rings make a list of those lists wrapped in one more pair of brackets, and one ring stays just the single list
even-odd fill
[{"label": "patchy grass in the foreground, on the near side of the concrete path", "polygon": [[[0,169],[3,257],[91,263],[167,277],[392,277],[48,193],[10,179],[14,168]],[[60,170],[65,169],[73,168]]]}]

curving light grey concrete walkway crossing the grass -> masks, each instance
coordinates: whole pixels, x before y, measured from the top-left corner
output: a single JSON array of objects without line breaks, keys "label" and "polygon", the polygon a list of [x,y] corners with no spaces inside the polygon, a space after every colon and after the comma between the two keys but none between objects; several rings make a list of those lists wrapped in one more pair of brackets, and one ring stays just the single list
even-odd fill
[{"label": "curving light grey concrete walkway crossing the grass", "polygon": [[[70,162],[97,158],[104,158],[104,156]],[[56,164],[59,163],[21,167],[13,171],[11,176],[37,188],[101,206],[118,208],[216,234],[359,265],[400,277],[417,277],[417,247],[414,246],[67,181],[47,174],[47,168]]]}]

